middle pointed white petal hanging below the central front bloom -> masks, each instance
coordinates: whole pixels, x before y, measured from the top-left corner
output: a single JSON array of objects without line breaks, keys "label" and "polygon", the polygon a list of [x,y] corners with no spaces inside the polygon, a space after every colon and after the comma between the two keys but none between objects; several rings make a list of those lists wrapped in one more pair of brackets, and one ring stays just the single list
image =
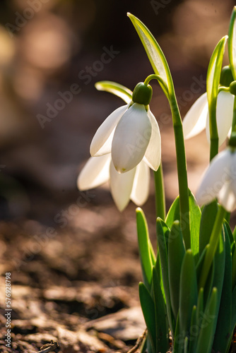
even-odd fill
[{"label": "middle pointed white petal hanging below the central front bloom", "polygon": [[119,211],[124,210],[129,203],[135,172],[136,168],[124,174],[119,174],[114,168],[114,164],[112,162],[110,164],[111,192],[114,203],[117,205]]}]

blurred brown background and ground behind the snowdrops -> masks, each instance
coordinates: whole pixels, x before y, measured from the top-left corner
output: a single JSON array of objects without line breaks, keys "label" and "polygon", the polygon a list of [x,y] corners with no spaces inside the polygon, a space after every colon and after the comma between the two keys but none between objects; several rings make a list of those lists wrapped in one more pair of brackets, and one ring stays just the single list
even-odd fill
[{"label": "blurred brown background and ground behind the snowdrops", "polygon": [[[206,91],[208,61],[228,33],[233,6],[231,0],[1,0],[0,282],[4,288],[4,274],[11,272],[15,349],[4,352],[36,352],[51,339],[59,340],[60,352],[97,352],[104,343],[84,348],[91,340],[84,331],[88,342],[81,344],[84,324],[138,307],[136,206],[129,203],[120,214],[108,185],[88,193],[76,189],[95,131],[123,104],[94,84],[114,80],[133,90],[153,73],[129,11],[160,43],[184,117]],[[170,109],[156,83],[151,109],[162,136],[169,207],[178,193],[175,142]],[[205,132],[186,147],[195,192],[208,164]],[[152,179],[143,210],[155,244],[153,189]],[[142,333],[142,316],[135,312],[138,321],[129,321],[128,331],[112,328],[112,337],[123,342],[121,352]],[[112,322],[102,332],[111,334],[117,319]]]}]

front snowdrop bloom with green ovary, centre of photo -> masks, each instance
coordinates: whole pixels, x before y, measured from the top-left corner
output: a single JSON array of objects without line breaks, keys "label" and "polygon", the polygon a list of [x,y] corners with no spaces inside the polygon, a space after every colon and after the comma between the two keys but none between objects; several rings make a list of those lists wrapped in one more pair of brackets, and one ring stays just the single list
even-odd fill
[{"label": "front snowdrop bloom with green ovary, centre of photo", "polygon": [[93,137],[90,155],[112,153],[117,172],[134,169],[144,160],[157,170],[160,165],[160,131],[155,116],[149,109],[152,88],[138,83],[132,101],[116,109],[105,119]]}]

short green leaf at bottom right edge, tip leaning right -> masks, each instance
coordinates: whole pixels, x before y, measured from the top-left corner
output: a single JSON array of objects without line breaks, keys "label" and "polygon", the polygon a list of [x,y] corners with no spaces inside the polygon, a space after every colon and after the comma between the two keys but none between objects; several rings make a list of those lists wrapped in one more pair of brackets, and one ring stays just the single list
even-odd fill
[{"label": "short green leaf at bottom right edge, tip leaning right", "polygon": [[212,349],[212,343],[214,338],[214,328],[216,326],[217,315],[217,289],[213,288],[211,297],[206,304],[203,319],[201,322],[201,328],[199,337],[196,345],[196,353],[210,353]]}]

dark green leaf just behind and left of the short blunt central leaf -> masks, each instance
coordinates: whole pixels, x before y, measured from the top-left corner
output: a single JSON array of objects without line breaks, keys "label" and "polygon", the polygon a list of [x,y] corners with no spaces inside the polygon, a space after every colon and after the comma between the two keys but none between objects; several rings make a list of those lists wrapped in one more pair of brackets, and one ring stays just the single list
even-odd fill
[{"label": "dark green leaf just behind and left of the short blunt central leaf", "polygon": [[170,236],[168,237],[170,301],[175,320],[177,320],[179,311],[179,280],[184,254],[185,247],[183,235],[179,221],[175,221],[172,225]]}]

